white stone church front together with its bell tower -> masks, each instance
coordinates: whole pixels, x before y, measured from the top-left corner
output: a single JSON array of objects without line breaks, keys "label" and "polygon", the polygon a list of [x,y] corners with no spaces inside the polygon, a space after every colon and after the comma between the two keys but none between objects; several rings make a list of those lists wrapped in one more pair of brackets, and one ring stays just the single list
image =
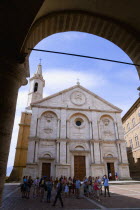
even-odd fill
[{"label": "white stone church front together with its bell tower", "polygon": [[130,179],[121,111],[77,85],[43,98],[42,66],[30,79],[32,109],[23,175]]}]

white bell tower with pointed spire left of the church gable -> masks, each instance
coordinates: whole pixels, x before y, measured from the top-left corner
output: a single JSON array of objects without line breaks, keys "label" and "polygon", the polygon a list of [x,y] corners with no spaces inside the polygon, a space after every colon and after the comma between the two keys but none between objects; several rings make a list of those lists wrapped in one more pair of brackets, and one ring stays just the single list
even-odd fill
[{"label": "white bell tower with pointed spire left of the church gable", "polygon": [[31,103],[34,103],[43,98],[43,87],[45,86],[45,80],[42,76],[42,65],[38,64],[37,70],[32,78],[29,80],[30,89],[28,94],[27,107],[30,107]]}]

